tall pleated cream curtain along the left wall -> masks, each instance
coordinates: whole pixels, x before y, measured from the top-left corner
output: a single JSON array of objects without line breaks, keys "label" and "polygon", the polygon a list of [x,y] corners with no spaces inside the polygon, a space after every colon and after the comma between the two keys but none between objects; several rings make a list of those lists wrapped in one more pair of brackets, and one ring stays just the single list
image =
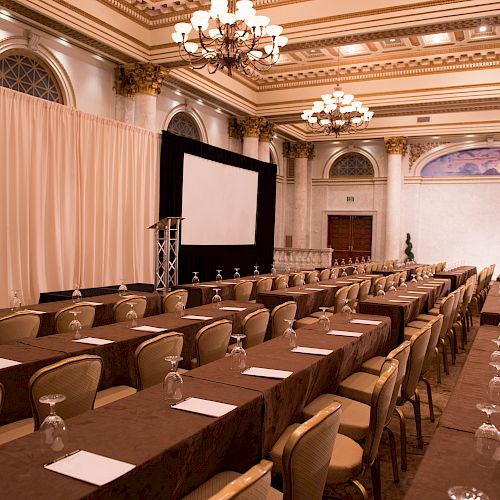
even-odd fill
[{"label": "tall pleated cream curtain along the left wall", "polygon": [[0,123],[0,307],[151,283],[159,135],[1,87]]}]

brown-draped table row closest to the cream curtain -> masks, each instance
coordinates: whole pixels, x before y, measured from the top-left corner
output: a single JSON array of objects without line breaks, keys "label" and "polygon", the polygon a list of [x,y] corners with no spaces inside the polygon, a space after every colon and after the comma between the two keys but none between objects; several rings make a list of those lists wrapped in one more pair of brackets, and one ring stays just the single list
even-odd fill
[{"label": "brown-draped table row closest to the cream curtain", "polygon": [[[148,293],[140,292],[136,294],[129,293],[128,295],[138,295],[141,297],[146,297],[148,303],[146,306],[145,316],[152,316],[154,314],[160,314],[161,312],[161,295],[158,293]],[[94,326],[108,325],[114,323],[115,318],[113,314],[113,306],[121,299],[126,298],[120,297],[117,293],[107,294],[107,295],[97,295],[95,297],[88,297],[88,299],[82,301],[82,303],[87,300],[92,302],[100,302],[101,304],[95,306],[95,319]],[[40,330],[38,332],[38,337],[43,337],[45,335],[52,335],[56,333],[55,315],[61,309],[73,305],[71,300],[58,300],[56,302],[46,302],[43,304],[34,304],[31,306],[25,306],[23,309],[32,309],[34,311],[43,311],[45,314],[40,315]],[[12,314],[10,309],[0,309],[0,318]]]}]

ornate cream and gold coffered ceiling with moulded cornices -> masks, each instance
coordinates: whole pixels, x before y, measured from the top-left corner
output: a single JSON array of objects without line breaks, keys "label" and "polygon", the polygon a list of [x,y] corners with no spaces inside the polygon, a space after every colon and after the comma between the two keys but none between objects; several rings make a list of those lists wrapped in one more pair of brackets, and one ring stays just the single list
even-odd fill
[{"label": "ornate cream and gold coffered ceiling with moulded cornices", "polygon": [[[375,112],[366,137],[500,129],[500,2],[256,0],[289,38],[253,78],[209,75],[181,61],[173,25],[210,0],[0,0],[11,15],[116,63],[148,60],[168,84],[231,113],[258,114],[285,135],[336,80]],[[375,8],[376,5],[376,8]]]}]

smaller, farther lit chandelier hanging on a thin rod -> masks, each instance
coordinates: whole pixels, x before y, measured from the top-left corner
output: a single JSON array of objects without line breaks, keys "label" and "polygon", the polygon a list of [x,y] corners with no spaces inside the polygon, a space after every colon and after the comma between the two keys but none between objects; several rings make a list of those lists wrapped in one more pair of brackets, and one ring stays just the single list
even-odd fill
[{"label": "smaller, farther lit chandelier hanging on a thin rod", "polygon": [[[340,51],[337,49],[338,60]],[[338,61],[337,60],[337,61]],[[352,94],[346,94],[340,87],[339,67],[337,66],[337,82],[331,94],[323,94],[321,101],[314,101],[311,109],[306,109],[301,118],[314,132],[335,134],[354,134],[368,126],[373,117],[373,111],[363,106],[361,101],[355,101]]]}]

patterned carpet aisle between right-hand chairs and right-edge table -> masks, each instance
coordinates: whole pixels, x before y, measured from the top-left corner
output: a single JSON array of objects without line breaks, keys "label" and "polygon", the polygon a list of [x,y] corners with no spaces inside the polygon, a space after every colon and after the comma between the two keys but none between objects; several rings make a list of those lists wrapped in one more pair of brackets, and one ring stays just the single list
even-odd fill
[{"label": "patterned carpet aisle between right-hand chairs and right-edge table", "polygon": [[[465,352],[459,352],[457,355],[457,361],[455,365],[450,363],[450,374],[442,374],[441,384],[437,383],[436,371],[432,369],[429,373],[427,379],[432,385],[432,397],[434,401],[434,413],[435,422],[431,423],[429,418],[429,406],[427,404],[427,391],[425,385],[419,383],[419,393],[422,401],[422,431],[424,438],[424,448],[419,449],[417,447],[417,435],[415,430],[415,419],[413,417],[413,407],[411,403],[407,403],[404,406],[404,414],[406,417],[406,434],[408,440],[408,470],[406,472],[401,471],[401,457],[399,448],[399,424],[396,418],[393,418],[391,422],[391,429],[396,437],[396,445],[398,447],[398,465],[399,465],[399,484],[395,484],[392,479],[392,465],[391,465],[391,454],[389,450],[389,441],[387,439],[387,434],[384,433],[382,437],[381,447],[380,447],[380,458],[381,458],[381,476],[382,476],[382,498],[387,500],[400,500],[405,496],[406,491],[410,487],[411,481],[415,476],[418,469],[420,461],[425,453],[428,443],[431,441],[432,436],[436,430],[439,422],[439,417],[441,416],[448,399],[450,397],[451,391],[455,386],[464,361],[469,352],[470,346],[479,327],[479,318],[474,317],[474,325],[468,334],[468,344],[465,346]],[[370,497],[371,495],[371,478],[370,472],[367,471],[365,475],[361,478],[361,482],[368,490]],[[345,497],[344,497],[345,498]],[[353,497],[354,498],[354,497]],[[361,495],[357,495],[356,498],[362,498]]]}]

